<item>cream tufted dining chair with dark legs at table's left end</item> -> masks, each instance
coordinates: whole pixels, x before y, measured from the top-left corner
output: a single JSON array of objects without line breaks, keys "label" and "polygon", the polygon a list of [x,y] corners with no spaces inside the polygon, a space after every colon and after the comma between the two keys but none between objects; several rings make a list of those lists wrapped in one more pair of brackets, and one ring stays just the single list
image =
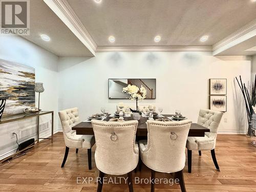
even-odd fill
[{"label": "cream tufted dining chair with dark legs at table's left end", "polygon": [[66,152],[61,167],[63,167],[66,163],[69,154],[69,148],[76,148],[76,153],[78,153],[79,148],[87,148],[88,167],[89,169],[92,169],[91,148],[95,144],[94,136],[76,135],[76,131],[72,130],[72,127],[79,123],[78,108],[59,111],[59,118],[61,121],[63,136],[66,144]]}]

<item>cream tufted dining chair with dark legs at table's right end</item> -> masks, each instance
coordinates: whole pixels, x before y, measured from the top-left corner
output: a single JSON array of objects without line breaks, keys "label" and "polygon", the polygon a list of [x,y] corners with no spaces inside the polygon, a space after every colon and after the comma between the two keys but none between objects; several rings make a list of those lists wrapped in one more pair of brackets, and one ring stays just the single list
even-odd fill
[{"label": "cream tufted dining chair with dark legs at table's right end", "polygon": [[210,132],[206,132],[204,137],[188,137],[187,138],[187,164],[188,173],[191,173],[192,166],[192,151],[197,150],[199,156],[201,156],[202,150],[210,150],[212,160],[214,161],[215,167],[220,171],[216,156],[215,156],[215,145],[217,138],[217,131],[221,121],[223,113],[219,111],[204,110],[201,109],[198,116],[197,123],[210,129]]}]

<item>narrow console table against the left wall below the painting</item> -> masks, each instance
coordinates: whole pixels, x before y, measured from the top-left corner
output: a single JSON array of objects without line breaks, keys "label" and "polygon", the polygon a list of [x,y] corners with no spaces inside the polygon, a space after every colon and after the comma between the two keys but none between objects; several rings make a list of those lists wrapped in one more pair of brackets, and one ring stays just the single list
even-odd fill
[{"label": "narrow console table against the left wall below the painting", "polygon": [[[52,114],[52,134],[51,134],[51,138],[40,138],[39,137],[39,116],[47,115],[47,114]],[[24,120],[24,119],[28,119],[28,118],[32,118],[32,117],[37,117],[36,118],[37,142],[39,142],[39,139],[51,139],[51,141],[53,142],[53,111],[40,111],[38,113],[29,113],[29,114],[20,113],[20,114],[17,114],[17,115],[12,115],[12,116],[9,116],[9,117],[2,118],[0,120],[0,124],[9,123],[9,122],[13,122],[13,121]]]}]

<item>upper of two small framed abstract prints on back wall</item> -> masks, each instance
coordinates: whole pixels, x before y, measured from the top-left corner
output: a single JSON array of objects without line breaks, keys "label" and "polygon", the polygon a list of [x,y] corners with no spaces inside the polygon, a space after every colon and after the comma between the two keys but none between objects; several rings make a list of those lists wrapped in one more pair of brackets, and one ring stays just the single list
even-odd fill
[{"label": "upper of two small framed abstract prints on back wall", "polygon": [[210,79],[210,95],[226,95],[227,79]]}]

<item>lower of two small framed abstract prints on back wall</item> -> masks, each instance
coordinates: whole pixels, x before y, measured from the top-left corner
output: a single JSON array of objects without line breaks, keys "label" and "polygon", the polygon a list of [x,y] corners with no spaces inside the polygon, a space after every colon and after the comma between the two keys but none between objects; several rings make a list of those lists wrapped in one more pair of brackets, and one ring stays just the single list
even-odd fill
[{"label": "lower of two small framed abstract prints on back wall", "polygon": [[210,95],[210,110],[214,111],[227,111],[227,96]]}]

